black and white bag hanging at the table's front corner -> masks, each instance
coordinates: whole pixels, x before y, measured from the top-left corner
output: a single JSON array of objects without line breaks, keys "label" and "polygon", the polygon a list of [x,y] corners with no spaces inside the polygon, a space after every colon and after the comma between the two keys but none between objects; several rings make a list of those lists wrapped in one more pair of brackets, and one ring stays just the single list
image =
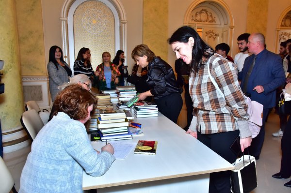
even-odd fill
[{"label": "black and white bag hanging at the table's front corner", "polygon": [[242,155],[233,164],[231,170],[231,191],[233,193],[249,193],[258,186],[256,159],[250,155]]}]

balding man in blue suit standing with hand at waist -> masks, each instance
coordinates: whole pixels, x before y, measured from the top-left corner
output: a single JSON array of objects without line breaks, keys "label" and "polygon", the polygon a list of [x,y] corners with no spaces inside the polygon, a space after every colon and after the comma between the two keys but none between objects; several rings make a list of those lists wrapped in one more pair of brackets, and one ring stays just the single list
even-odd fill
[{"label": "balding man in blue suit standing with hand at waist", "polygon": [[253,33],[248,38],[248,50],[253,55],[244,61],[242,73],[239,74],[242,91],[251,100],[264,105],[263,125],[259,135],[253,139],[250,154],[257,160],[265,138],[265,120],[270,108],[275,106],[276,89],[285,82],[285,73],[279,55],[265,49],[265,37]]}]

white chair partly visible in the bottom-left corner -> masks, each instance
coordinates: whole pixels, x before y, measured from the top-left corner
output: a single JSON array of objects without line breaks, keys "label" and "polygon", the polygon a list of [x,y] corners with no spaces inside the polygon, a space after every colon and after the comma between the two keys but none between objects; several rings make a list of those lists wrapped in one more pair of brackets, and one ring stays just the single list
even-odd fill
[{"label": "white chair partly visible in the bottom-left corner", "polygon": [[17,193],[14,187],[14,179],[8,170],[3,159],[0,157],[0,193],[10,193],[12,190],[13,193]]}]

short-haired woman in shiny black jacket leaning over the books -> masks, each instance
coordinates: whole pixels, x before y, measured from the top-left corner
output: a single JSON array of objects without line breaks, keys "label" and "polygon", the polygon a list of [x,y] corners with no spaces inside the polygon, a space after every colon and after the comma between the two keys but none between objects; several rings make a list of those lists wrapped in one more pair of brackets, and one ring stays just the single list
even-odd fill
[{"label": "short-haired woman in shiny black jacket leaning over the books", "polygon": [[172,67],[160,57],[156,57],[144,44],[137,45],[132,50],[131,58],[142,68],[148,66],[146,84],[150,90],[140,93],[139,100],[153,96],[159,111],[177,123],[183,105],[181,97],[183,90],[178,85]]}]

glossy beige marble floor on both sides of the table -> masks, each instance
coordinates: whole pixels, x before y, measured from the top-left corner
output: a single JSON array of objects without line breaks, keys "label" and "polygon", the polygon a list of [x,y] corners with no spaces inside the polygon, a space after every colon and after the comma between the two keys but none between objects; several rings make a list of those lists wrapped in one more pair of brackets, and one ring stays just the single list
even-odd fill
[{"label": "glossy beige marble floor on both sides of the table", "polygon": [[[281,161],[281,137],[273,137],[279,127],[278,116],[272,112],[266,123],[266,135],[260,159],[257,161],[258,187],[252,193],[291,193],[291,188],[283,186],[288,179],[275,179],[272,175],[279,172]],[[4,161],[16,181],[16,190],[19,190],[19,179],[30,147],[4,154]]]}]

